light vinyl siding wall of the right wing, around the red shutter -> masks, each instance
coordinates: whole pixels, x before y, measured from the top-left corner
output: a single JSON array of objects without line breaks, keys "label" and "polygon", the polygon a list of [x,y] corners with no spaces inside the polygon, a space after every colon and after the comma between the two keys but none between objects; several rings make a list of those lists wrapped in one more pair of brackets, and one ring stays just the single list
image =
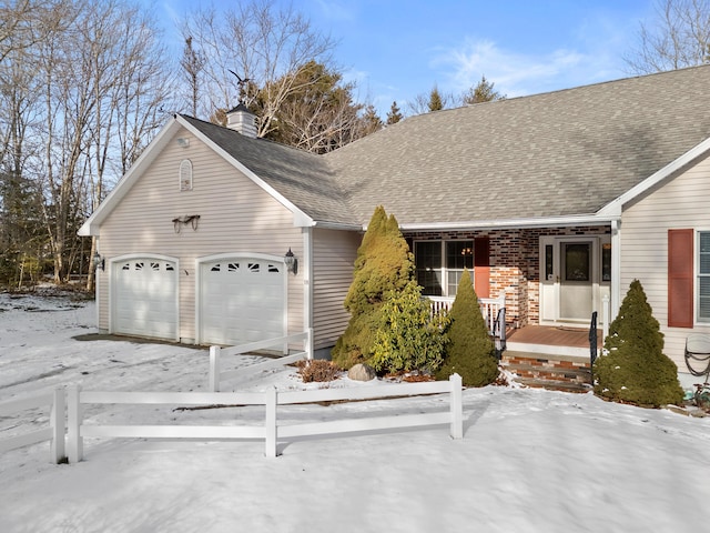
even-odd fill
[{"label": "light vinyl siding wall of the right wing, around the red shutter", "polygon": [[[621,300],[626,296],[631,281],[638,279],[643,285],[653,316],[660,322],[661,331],[666,335],[663,352],[681,371],[686,371],[686,338],[693,331],[710,334],[710,323],[697,322],[693,329],[668,328],[668,230],[691,228],[696,231],[710,231],[708,205],[710,159],[688,168],[627,207],[620,229]],[[697,305],[696,301],[696,315]]]}]

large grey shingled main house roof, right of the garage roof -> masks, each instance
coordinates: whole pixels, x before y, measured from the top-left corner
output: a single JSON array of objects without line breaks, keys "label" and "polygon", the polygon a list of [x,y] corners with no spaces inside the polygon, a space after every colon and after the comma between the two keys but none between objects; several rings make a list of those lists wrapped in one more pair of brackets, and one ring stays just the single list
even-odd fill
[{"label": "large grey shingled main house roof, right of the garage roof", "polygon": [[710,138],[710,66],[408,118],[324,157],[355,217],[591,214]]}]

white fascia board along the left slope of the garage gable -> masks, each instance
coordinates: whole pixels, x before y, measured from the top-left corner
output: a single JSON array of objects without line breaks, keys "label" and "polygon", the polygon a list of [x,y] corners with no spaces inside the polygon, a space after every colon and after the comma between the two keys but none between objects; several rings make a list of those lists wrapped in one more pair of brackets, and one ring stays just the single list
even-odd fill
[{"label": "white fascia board along the left slope of the garage gable", "polygon": [[151,141],[143,153],[138,158],[135,163],[131,165],[123,178],[116,183],[113,190],[101,202],[97,210],[87,219],[77,232],[80,237],[99,235],[101,223],[106,219],[111,211],[121,202],[125,194],[131,190],[143,171],[153,162],[158,154],[163,150],[174,133],[180,129],[178,120],[173,118]]}]

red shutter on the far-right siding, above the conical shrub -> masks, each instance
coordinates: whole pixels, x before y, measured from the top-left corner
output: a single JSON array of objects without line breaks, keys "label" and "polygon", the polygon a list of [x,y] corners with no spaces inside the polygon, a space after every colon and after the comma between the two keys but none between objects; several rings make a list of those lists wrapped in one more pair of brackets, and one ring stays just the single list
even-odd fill
[{"label": "red shutter on the far-right siding, above the conical shrub", "polygon": [[668,230],[668,325],[693,324],[693,230]]}]

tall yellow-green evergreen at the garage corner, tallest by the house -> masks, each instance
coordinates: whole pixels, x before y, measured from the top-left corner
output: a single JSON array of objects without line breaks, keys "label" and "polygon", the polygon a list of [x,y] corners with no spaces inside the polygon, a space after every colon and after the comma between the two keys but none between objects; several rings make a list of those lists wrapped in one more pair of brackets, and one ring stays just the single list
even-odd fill
[{"label": "tall yellow-green evergreen at the garage corner, tallest by the house", "polygon": [[394,215],[379,205],[357,249],[353,283],[344,305],[351,320],[332,351],[343,369],[372,358],[379,311],[389,291],[400,291],[414,276],[414,260]]}]

